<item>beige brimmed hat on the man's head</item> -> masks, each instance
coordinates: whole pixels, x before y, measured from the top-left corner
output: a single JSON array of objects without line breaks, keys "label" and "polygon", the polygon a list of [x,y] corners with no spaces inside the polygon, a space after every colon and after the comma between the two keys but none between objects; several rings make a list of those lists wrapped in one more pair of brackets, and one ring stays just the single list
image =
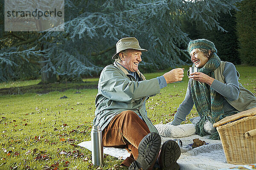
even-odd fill
[{"label": "beige brimmed hat on the man's head", "polygon": [[[134,37],[122,38],[118,42],[116,42],[116,54],[118,54],[120,51],[126,50],[128,48],[140,50],[140,51],[148,51],[143,48],[140,48],[139,41]],[[116,54],[113,55],[112,59],[117,58]]]}]

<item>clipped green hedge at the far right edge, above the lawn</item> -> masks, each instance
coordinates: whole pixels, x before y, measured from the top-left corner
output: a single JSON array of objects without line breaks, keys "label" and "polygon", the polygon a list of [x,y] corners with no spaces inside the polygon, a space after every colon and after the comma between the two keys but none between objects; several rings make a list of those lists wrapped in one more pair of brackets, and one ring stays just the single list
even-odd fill
[{"label": "clipped green hedge at the far right edge, above the lawn", "polygon": [[243,63],[256,65],[256,0],[243,0],[238,5],[239,55]]}]

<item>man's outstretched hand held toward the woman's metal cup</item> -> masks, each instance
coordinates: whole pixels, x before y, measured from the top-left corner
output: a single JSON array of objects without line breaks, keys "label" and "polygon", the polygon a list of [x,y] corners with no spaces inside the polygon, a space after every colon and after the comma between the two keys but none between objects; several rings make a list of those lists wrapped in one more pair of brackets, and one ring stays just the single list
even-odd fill
[{"label": "man's outstretched hand held toward the woman's metal cup", "polygon": [[182,68],[175,68],[172,69],[171,71],[163,74],[163,77],[166,79],[167,84],[172,83],[172,82],[178,82],[181,81],[182,78],[184,77],[184,71]]}]

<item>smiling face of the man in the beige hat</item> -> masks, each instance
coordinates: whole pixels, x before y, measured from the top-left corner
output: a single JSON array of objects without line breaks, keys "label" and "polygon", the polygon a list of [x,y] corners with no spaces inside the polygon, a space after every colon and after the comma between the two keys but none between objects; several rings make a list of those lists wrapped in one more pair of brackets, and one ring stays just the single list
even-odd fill
[{"label": "smiling face of the man in the beige hat", "polygon": [[138,71],[138,65],[142,61],[141,55],[142,53],[140,50],[128,49],[123,53],[121,57],[122,62],[120,64],[129,71]]}]

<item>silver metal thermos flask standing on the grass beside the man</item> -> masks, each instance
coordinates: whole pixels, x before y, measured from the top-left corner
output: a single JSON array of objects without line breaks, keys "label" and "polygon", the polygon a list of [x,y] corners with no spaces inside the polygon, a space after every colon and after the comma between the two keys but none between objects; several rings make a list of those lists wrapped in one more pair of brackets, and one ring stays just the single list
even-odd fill
[{"label": "silver metal thermos flask standing on the grass beside the man", "polygon": [[103,164],[102,130],[99,125],[93,125],[91,131],[92,139],[92,161],[94,165]]}]

